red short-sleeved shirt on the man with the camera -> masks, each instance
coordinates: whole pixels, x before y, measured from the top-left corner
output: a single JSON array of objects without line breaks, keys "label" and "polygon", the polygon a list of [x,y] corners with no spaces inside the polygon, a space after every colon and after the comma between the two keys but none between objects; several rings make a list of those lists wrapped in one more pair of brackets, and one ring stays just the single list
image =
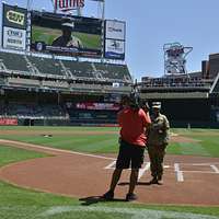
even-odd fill
[{"label": "red short-sleeved shirt on the man with the camera", "polygon": [[134,110],[130,107],[118,112],[118,124],[120,128],[120,137],[123,140],[131,145],[146,146],[147,137],[145,128],[151,124],[149,114],[143,110]]}]

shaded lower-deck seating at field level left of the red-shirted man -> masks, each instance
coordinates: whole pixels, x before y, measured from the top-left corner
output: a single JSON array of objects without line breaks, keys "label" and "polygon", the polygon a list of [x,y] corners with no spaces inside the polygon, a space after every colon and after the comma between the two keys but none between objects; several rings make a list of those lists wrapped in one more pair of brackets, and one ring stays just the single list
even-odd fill
[{"label": "shaded lower-deck seating at field level left of the red-shirted man", "polygon": [[[0,101],[0,117],[18,118],[22,124],[26,119],[66,120],[72,125],[80,124],[116,124],[116,111],[90,111],[67,108],[58,104],[36,104],[34,102]],[[28,125],[28,124],[27,124]]]}]

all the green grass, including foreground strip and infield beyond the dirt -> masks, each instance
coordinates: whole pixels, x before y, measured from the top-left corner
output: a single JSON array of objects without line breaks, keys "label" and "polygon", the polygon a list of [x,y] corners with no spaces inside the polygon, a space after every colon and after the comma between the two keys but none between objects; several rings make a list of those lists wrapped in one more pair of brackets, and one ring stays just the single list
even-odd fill
[{"label": "all the green grass, including foreground strip and infield beyond the dirt", "polygon": [[[21,131],[11,135],[5,130]],[[62,130],[64,134],[56,134]],[[78,135],[77,131],[97,131],[99,135]],[[35,131],[38,131],[37,134]],[[101,134],[102,131],[112,131]],[[112,153],[117,151],[118,128],[92,127],[0,127],[1,139],[12,139],[68,150]],[[42,134],[53,132],[51,138]],[[188,145],[171,143],[169,153],[219,157],[218,130],[173,129],[180,136],[198,141]],[[193,149],[191,149],[193,148]],[[0,166],[21,160],[42,158],[45,154],[0,146]],[[215,219],[219,218],[219,207],[189,206],[149,206],[123,201],[94,203],[87,205],[82,200],[51,194],[22,189],[0,182],[0,218],[1,219]],[[186,215],[187,214],[187,215]],[[196,215],[198,214],[198,215]]]}]

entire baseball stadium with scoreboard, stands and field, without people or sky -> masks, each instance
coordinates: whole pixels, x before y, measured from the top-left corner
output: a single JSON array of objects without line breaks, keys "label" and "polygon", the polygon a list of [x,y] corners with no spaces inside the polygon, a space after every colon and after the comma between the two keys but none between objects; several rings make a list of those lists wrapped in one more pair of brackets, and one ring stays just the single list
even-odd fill
[{"label": "entire baseball stadium with scoreboard, stands and field, without people or sky", "polygon": [[[90,1],[101,18],[82,15],[85,1],[51,1],[54,12],[0,5],[0,219],[219,218],[219,54],[189,72],[193,47],[166,43],[163,76],[138,82],[125,62],[126,22]],[[164,183],[149,183],[146,150],[138,199],[125,199],[125,170],[110,201],[117,113],[131,92],[160,102],[170,120]]]}]

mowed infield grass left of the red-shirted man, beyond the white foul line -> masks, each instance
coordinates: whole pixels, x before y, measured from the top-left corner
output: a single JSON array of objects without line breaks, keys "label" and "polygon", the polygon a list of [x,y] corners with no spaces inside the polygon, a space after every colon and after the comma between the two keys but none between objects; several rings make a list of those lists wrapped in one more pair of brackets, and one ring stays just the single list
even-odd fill
[{"label": "mowed infield grass left of the red-shirted man, beyond the white foul line", "polygon": [[0,135],[0,138],[92,153],[112,153],[116,152],[118,149],[118,134],[101,134],[100,130],[96,130],[96,134],[92,132],[92,135],[90,135],[85,134],[87,130],[77,130],[77,132],[78,131],[84,131],[84,134],[73,134],[74,131],[72,130],[72,132],[65,135],[57,134],[51,137],[44,137],[41,134],[25,135],[25,132],[23,132],[21,135]]}]

